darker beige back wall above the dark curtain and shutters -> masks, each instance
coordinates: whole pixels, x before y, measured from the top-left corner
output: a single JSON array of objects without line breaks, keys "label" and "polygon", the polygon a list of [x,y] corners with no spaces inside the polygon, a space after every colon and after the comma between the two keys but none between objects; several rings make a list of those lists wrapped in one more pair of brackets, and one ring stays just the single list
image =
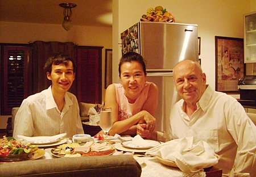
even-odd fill
[{"label": "darker beige back wall above the dark curtain and shutters", "polygon": [[[102,49],[102,101],[105,100],[105,49],[112,49],[112,28],[73,26],[65,31],[61,24],[0,22],[0,43],[27,44],[29,41],[73,42],[79,45],[100,46]],[[9,116],[0,116],[0,129],[6,128]]]}]

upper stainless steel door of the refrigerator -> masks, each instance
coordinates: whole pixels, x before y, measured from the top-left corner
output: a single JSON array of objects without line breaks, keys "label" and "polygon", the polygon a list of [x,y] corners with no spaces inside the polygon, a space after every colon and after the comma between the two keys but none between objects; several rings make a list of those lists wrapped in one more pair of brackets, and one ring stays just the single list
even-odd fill
[{"label": "upper stainless steel door of the refrigerator", "polygon": [[140,53],[147,69],[173,69],[178,61],[198,61],[197,25],[139,22]]}]

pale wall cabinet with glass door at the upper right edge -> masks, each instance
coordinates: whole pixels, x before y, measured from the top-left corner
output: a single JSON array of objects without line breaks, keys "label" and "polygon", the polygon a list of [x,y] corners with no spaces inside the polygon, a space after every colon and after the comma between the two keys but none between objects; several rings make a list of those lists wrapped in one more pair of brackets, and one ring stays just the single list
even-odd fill
[{"label": "pale wall cabinet with glass door at the upper right edge", "polygon": [[256,63],[256,11],[243,15],[243,38],[245,63]]}]

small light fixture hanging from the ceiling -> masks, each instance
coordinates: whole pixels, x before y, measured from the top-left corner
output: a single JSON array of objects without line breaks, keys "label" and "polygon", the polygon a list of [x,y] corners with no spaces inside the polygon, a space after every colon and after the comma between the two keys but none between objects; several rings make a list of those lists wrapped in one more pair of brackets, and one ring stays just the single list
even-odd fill
[{"label": "small light fixture hanging from the ceiling", "polygon": [[66,31],[68,31],[73,26],[72,21],[71,21],[71,16],[72,16],[71,9],[76,7],[76,5],[73,3],[60,3],[59,6],[64,8],[64,10],[63,10],[64,20],[62,22],[62,27]]}]

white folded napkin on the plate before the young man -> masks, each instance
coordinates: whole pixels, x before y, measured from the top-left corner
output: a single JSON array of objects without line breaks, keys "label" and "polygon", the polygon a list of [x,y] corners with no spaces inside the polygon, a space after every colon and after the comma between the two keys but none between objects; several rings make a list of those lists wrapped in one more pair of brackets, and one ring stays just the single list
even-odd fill
[{"label": "white folded napkin on the plate before the young man", "polygon": [[59,140],[60,138],[66,136],[67,133],[61,133],[61,134],[56,134],[55,136],[37,136],[37,137],[27,137],[23,135],[18,135],[18,138],[25,140],[30,143],[35,143],[35,144],[46,144],[49,142],[54,142]]}]

